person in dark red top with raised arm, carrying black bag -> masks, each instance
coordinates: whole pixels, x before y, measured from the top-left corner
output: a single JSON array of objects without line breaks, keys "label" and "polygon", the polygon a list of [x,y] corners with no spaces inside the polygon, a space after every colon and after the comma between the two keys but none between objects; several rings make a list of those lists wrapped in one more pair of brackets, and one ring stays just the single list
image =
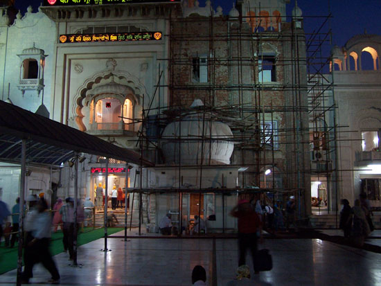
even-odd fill
[{"label": "person in dark red top with raised arm, carrying black bag", "polygon": [[[230,215],[238,218],[238,267],[246,264],[247,249],[250,249],[255,265],[255,256],[258,249],[257,231],[260,234],[260,241],[262,242],[263,240],[260,219],[247,199],[241,199],[238,205],[231,210]],[[255,268],[254,271],[258,273],[258,270]]]}]

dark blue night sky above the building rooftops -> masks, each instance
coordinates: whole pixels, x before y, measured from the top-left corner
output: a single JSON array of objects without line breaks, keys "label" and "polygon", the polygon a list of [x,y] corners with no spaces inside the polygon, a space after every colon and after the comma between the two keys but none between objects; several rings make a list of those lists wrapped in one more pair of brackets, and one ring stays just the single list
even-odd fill
[{"label": "dark blue night sky above the building rooftops", "polygon": [[[204,6],[205,0],[199,0],[200,6]],[[26,11],[26,7],[33,6],[33,10],[37,8],[42,0],[16,0],[16,7],[22,13]],[[233,0],[212,0],[213,7],[222,6],[225,14],[233,6]],[[288,5],[287,14],[294,6],[294,0]],[[364,33],[364,29],[368,34],[381,35],[381,1],[380,0],[299,0],[298,5],[303,10],[305,16],[305,31],[312,33],[313,30],[319,28],[324,18],[310,18],[312,16],[326,16],[329,11],[333,15],[331,26],[333,29],[333,44],[344,46],[346,41],[353,35]],[[330,6],[330,9],[329,9]],[[327,26],[328,28],[329,26]]]}]

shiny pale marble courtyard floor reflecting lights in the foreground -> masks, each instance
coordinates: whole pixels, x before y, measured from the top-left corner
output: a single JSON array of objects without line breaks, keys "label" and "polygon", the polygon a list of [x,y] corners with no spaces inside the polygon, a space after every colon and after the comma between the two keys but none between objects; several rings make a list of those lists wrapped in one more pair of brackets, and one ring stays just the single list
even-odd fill
[{"label": "shiny pale marble courtyard floor reflecting lights in the foreground", "polygon": [[[123,235],[123,232],[121,233]],[[206,269],[211,285],[381,285],[381,256],[317,239],[268,239],[260,247],[272,253],[272,271],[233,278],[238,264],[235,239],[110,238],[78,249],[82,268],[69,266],[67,253],[55,256],[61,285],[191,285],[195,265]],[[253,269],[251,259],[247,264]],[[31,284],[48,285],[48,272],[36,265]],[[0,276],[0,286],[15,285],[16,271]]]}]

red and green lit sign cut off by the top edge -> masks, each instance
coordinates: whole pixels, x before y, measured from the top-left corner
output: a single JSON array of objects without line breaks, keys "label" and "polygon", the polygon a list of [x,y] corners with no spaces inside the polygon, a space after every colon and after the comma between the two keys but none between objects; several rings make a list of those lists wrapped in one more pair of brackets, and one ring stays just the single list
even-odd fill
[{"label": "red and green lit sign cut off by the top edge", "polygon": [[129,3],[166,3],[180,0],[44,0],[44,6],[80,6],[80,5],[109,5]]}]

